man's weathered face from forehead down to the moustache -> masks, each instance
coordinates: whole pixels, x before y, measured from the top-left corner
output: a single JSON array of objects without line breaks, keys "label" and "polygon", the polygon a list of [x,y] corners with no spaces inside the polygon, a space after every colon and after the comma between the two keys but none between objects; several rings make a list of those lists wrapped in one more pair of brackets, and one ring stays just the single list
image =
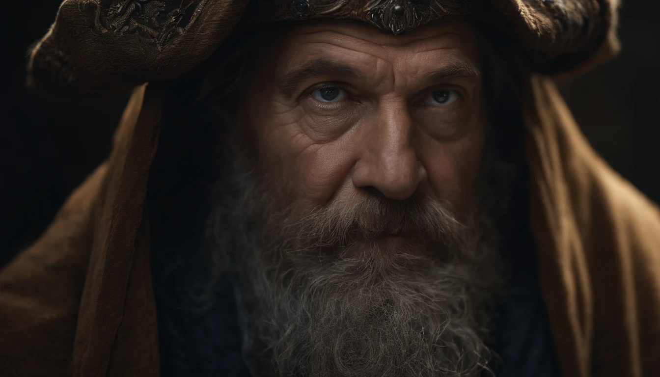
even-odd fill
[{"label": "man's weathered face from forehead down to the moustache", "polygon": [[[475,210],[486,106],[477,32],[446,20],[392,36],[358,22],[298,22],[261,56],[240,101],[257,169],[295,211],[364,193],[420,193]],[[337,98],[323,102],[319,88]],[[328,89],[324,89],[326,92]],[[434,100],[438,90],[444,98]]]}]

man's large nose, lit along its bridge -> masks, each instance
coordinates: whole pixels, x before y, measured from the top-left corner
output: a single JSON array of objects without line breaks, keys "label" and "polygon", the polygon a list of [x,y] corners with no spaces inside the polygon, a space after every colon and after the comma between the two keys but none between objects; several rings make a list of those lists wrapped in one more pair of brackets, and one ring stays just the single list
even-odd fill
[{"label": "man's large nose, lit along its bridge", "polygon": [[413,120],[407,106],[405,102],[379,106],[372,120],[365,127],[364,152],[355,164],[352,182],[389,199],[408,199],[426,179],[426,170],[411,143]]}]

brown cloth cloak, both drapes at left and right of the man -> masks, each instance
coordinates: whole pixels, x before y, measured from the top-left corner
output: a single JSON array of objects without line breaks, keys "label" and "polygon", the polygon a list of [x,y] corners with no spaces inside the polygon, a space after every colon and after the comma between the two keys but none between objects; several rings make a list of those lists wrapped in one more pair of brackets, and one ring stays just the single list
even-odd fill
[{"label": "brown cloth cloak, both drapes at left and right of the man", "polygon": [[[527,83],[531,225],[562,376],[659,376],[660,213],[591,150],[552,83]],[[0,376],[158,376],[144,213],[161,106],[135,90],[108,161],[0,272]]]}]

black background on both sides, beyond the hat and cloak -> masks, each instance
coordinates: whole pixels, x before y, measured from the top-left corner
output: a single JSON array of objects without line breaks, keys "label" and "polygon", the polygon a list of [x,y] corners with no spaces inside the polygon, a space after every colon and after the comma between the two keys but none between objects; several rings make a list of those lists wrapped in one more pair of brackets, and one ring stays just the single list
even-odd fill
[{"label": "black background on both sides, beyond the hat and cloak", "polygon": [[[110,152],[125,98],[91,108],[38,98],[25,85],[26,50],[55,18],[60,1],[3,9],[0,101],[0,265],[51,221],[59,206]],[[660,201],[660,1],[624,2],[619,57],[560,83],[595,149],[622,176]],[[11,9],[16,8],[16,9]]]}]

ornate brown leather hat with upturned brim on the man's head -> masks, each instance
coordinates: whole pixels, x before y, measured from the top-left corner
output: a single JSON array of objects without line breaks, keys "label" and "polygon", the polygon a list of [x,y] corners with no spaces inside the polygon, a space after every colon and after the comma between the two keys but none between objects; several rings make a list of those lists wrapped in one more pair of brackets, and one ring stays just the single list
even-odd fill
[{"label": "ornate brown leather hat with upturned brim on the man's head", "polygon": [[542,73],[616,53],[618,0],[65,0],[30,54],[30,83],[86,100],[174,79],[203,63],[240,22],[362,20],[400,34],[432,20],[494,19]]}]

